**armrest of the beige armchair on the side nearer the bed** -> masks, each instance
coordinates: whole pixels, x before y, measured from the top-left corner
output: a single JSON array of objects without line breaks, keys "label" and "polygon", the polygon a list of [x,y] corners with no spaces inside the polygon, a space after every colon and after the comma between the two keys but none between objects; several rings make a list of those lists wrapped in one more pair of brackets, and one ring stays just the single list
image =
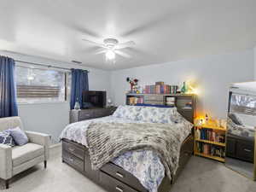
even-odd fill
[{"label": "armrest of the beige armchair on the side nearer the bed", "polygon": [[30,143],[43,145],[45,150],[45,160],[49,159],[49,135],[34,131],[25,131]]}]

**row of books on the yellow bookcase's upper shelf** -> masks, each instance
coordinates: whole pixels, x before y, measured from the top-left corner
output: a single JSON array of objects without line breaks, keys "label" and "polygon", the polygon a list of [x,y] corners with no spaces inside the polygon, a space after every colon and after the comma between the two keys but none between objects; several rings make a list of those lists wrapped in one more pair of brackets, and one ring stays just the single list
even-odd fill
[{"label": "row of books on the yellow bookcase's upper shelf", "polygon": [[211,142],[225,143],[225,136],[223,134],[205,128],[197,129],[195,131],[195,138]]}]

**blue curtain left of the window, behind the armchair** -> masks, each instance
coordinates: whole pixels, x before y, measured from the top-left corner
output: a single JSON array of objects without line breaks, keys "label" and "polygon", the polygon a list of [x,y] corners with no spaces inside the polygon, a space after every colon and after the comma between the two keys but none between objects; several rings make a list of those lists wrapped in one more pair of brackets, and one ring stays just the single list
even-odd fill
[{"label": "blue curtain left of the window, behind the armchair", "polygon": [[15,61],[0,55],[0,118],[18,116]]}]

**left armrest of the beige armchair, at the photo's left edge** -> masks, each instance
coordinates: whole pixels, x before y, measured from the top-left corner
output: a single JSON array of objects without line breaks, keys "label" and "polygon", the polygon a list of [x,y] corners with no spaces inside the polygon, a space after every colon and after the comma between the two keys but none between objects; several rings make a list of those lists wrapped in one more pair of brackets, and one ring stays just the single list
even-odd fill
[{"label": "left armrest of the beige armchair, at the photo's left edge", "polygon": [[0,144],[0,178],[9,179],[12,177],[12,148]]}]

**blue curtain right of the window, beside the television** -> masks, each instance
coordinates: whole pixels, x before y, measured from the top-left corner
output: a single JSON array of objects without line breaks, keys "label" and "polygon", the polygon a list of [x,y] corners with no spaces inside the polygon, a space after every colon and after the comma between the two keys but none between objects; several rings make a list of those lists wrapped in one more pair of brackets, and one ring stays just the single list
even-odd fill
[{"label": "blue curtain right of the window, beside the television", "polygon": [[83,91],[89,90],[88,71],[82,69],[71,69],[71,99],[70,108],[73,109],[75,102],[79,102],[80,107],[83,106]]}]

